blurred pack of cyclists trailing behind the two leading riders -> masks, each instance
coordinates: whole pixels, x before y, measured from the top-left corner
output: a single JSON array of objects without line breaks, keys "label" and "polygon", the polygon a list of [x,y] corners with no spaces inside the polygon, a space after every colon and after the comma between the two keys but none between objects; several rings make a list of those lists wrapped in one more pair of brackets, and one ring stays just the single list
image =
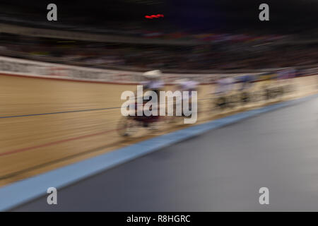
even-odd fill
[{"label": "blurred pack of cyclists trailing behind the two leading riders", "polygon": [[[216,88],[211,92],[214,96],[215,107],[224,109],[238,104],[245,105],[248,102],[282,97],[295,90],[290,80],[295,75],[294,69],[279,69],[257,75],[219,76],[216,80]],[[254,90],[255,82],[261,80],[264,80],[261,88]]]}]

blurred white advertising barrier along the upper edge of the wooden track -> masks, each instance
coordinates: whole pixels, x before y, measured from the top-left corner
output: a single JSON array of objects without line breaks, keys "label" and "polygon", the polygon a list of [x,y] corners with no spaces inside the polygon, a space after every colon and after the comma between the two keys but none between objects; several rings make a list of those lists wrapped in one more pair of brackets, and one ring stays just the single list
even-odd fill
[{"label": "blurred white advertising barrier along the upper edge of the wooden track", "polygon": [[[104,83],[140,83],[143,81],[142,72],[118,71],[108,69],[93,69],[82,66],[52,64],[11,57],[0,57],[0,73],[18,76],[33,76],[39,78],[56,78],[73,81],[94,81]],[[228,76],[239,76],[243,73],[227,73]],[[261,74],[261,73],[244,73]],[[211,83],[220,73],[163,73],[165,83],[191,76],[199,83]]]}]

